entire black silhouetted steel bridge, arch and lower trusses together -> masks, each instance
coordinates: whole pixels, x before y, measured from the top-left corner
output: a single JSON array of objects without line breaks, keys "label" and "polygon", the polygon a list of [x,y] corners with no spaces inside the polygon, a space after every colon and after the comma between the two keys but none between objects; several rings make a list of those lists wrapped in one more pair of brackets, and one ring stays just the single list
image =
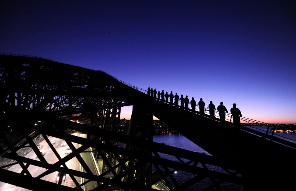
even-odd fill
[{"label": "entire black silhouetted steel bridge, arch and lower trusses together", "polygon": [[[155,190],[152,185],[163,181],[170,190],[184,190],[209,178],[212,185],[206,190],[221,190],[219,185],[224,182],[241,185],[243,190],[294,187],[295,143],[268,130],[235,128],[231,119],[220,122],[207,113],[201,116],[199,111],[185,111],[103,71],[41,57],[1,54],[0,88],[1,182],[31,190],[40,190],[40,185],[82,190],[90,182],[97,182],[94,190]],[[117,132],[120,108],[129,105],[133,106],[131,121],[127,135],[122,135]],[[153,116],[211,156],[153,142]],[[73,122],[76,120],[81,123]],[[73,131],[86,137],[74,136]],[[58,158],[56,163],[50,164],[39,152],[34,140],[40,135]],[[72,153],[60,156],[47,136],[65,140]],[[73,143],[81,146],[76,148]],[[32,149],[38,160],[20,155],[23,148]],[[86,151],[88,148],[91,151]],[[94,174],[81,157],[85,152],[103,160],[100,174]],[[77,158],[84,171],[67,167],[72,158]],[[16,164],[21,172],[9,170]],[[34,176],[28,169],[32,165],[46,170]],[[175,171],[194,176],[178,182]],[[53,172],[68,174],[74,188],[63,186],[61,180],[53,183],[42,179]],[[77,177],[86,181],[79,182]]]}]

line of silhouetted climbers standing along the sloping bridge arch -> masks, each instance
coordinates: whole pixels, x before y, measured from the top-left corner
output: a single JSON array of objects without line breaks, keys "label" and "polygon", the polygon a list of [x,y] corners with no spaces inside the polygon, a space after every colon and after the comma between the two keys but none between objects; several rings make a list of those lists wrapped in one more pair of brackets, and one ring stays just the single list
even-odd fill
[{"label": "line of silhouetted climbers standing along the sloping bridge arch", "polygon": [[[189,104],[189,99],[188,99],[188,95],[186,95],[186,97],[184,98],[183,95],[181,95],[181,98],[179,97],[178,93],[176,93],[175,95],[173,94],[173,91],[170,92],[170,94],[168,94],[168,92],[162,91],[156,91],[156,88],[150,88],[150,86],[147,89],[147,94],[150,95],[151,97],[153,97],[154,99],[161,100],[162,102],[164,102],[164,98],[165,98],[165,102],[168,102],[168,98],[170,97],[170,104],[173,105],[173,99],[175,98],[175,103],[174,105],[176,107],[178,107],[179,104],[179,100],[180,100],[180,108],[181,109],[185,109],[186,111],[188,110],[188,104]],[[161,99],[160,99],[161,97]],[[192,113],[195,113],[195,107],[196,107],[196,101],[194,100],[194,97],[192,97],[192,100],[190,101],[191,104],[191,109],[192,109]],[[233,123],[235,127],[239,127],[240,126],[240,116],[242,117],[242,113],[241,111],[236,107],[237,104],[232,104],[233,108],[230,109],[230,113],[232,114],[232,118],[233,118]],[[185,106],[185,107],[184,107]],[[202,98],[200,98],[200,101],[198,102],[198,106],[200,109],[200,115],[204,116],[205,115],[205,102],[202,101]],[[210,101],[209,104],[209,112],[210,112],[210,118],[211,119],[215,119],[215,105],[213,104],[213,101]],[[225,106],[223,106],[223,102],[220,102],[220,105],[217,107],[217,110],[219,111],[219,116],[220,116],[220,121],[224,122],[225,121],[225,112],[228,113],[227,109]]]}]

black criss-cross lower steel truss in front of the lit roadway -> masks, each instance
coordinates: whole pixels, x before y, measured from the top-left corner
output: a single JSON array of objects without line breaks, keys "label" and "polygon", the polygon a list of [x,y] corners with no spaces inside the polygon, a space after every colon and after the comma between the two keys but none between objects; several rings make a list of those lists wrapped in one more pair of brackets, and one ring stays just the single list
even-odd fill
[{"label": "black criss-cross lower steel truss in front of the lit roadway", "polygon": [[[128,135],[120,135],[103,129],[94,129],[86,124],[77,124],[66,119],[55,118],[46,112],[25,111],[18,109],[15,106],[6,107],[4,111],[5,114],[4,116],[2,115],[2,117],[5,117],[12,123],[11,127],[14,131],[23,132],[22,140],[25,141],[19,140],[11,143],[2,133],[1,138],[4,140],[5,146],[2,146],[1,156],[16,161],[22,167],[20,175],[26,176],[26,178],[31,179],[31,181],[35,181],[35,179],[40,180],[52,172],[59,171],[69,174],[75,182],[76,189],[81,189],[84,184],[95,181],[97,182],[97,189],[99,190],[152,190],[151,186],[153,184],[156,184],[161,180],[165,180],[170,190],[183,190],[207,177],[213,182],[213,186],[211,187],[216,187],[217,189],[220,189],[219,184],[222,182],[242,184],[241,176],[237,171],[234,171],[232,167],[223,166],[223,164],[220,164],[217,158],[213,156],[207,156],[205,154],[183,150]],[[19,121],[13,122],[15,115],[21,116],[21,121],[40,121],[42,126],[34,125],[33,123],[24,124]],[[87,136],[86,138],[77,137],[69,134],[69,130],[85,133]],[[33,139],[40,134],[43,135],[53,153],[59,159],[56,163],[49,164],[40,154],[38,148],[33,142]],[[62,158],[53,145],[50,144],[47,135],[65,140],[73,152]],[[115,142],[128,144],[130,147],[118,147],[113,144]],[[75,148],[73,143],[78,143],[81,146],[79,148]],[[26,144],[30,145],[40,161],[19,156],[17,154],[17,151]],[[106,165],[109,167],[108,170],[100,175],[96,175],[91,172],[83,158],[81,158],[81,153],[89,152],[88,148],[96,149],[91,152],[99,153]],[[109,160],[107,160],[103,154],[105,151],[108,151],[115,156],[117,161],[116,164],[112,164]],[[151,155],[151,153],[153,154]],[[165,159],[161,156],[163,154],[170,155],[175,158],[175,160]],[[75,157],[78,159],[79,163],[83,166],[83,169],[85,169],[86,172],[67,168],[66,162]],[[124,159],[122,159],[123,157]],[[131,163],[133,163],[133,165],[130,165]],[[149,181],[145,182],[145,184],[140,184],[140,182],[137,181],[136,174],[138,171],[141,172],[143,170],[143,166],[149,166],[149,164],[152,164],[152,169],[155,169],[155,172],[151,174]],[[30,165],[39,166],[47,170],[37,177],[31,177],[30,171],[28,170]],[[213,170],[216,169],[217,166],[224,169],[225,173]],[[117,171],[119,168],[122,168],[123,170],[120,172]],[[180,183],[174,178],[175,171],[188,172],[192,174],[192,178],[186,182]],[[113,177],[107,178],[108,173],[112,173]],[[78,181],[75,181],[74,176],[87,179],[88,181],[79,184]],[[13,178],[9,180],[7,180],[7,177],[6,179],[1,179],[1,181],[4,180],[10,184],[19,185],[17,180]]]}]

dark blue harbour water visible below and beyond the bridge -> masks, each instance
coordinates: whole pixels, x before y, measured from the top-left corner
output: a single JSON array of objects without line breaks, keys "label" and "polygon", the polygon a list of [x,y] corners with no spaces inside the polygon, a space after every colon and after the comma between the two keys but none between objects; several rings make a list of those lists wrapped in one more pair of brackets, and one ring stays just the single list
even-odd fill
[{"label": "dark blue harbour water visible below and beyond the bridge", "polygon": [[[253,129],[256,129],[258,131],[261,130],[262,132],[266,132],[266,129],[267,129],[267,127],[264,127],[264,126],[253,126],[253,127],[249,127],[249,128],[253,128]],[[269,131],[268,133],[271,134],[271,131]],[[296,134],[295,133],[291,133],[291,132],[275,132],[274,136],[296,143],[296,141],[295,141],[296,140]],[[170,145],[170,146],[173,146],[173,147],[178,147],[178,148],[191,150],[191,151],[198,152],[198,153],[205,153],[207,155],[210,155],[205,150],[203,150],[199,146],[192,143],[190,140],[188,140],[183,135],[176,135],[176,134],[154,135],[153,136],[153,141],[157,142],[157,143],[165,143],[166,145]],[[160,153],[160,156],[162,156],[163,158],[167,158],[167,159],[176,161],[176,158],[174,156],[168,156],[168,155],[164,155],[164,154],[162,155],[161,153]],[[221,171],[221,169],[218,169],[218,167],[215,170]],[[176,174],[174,174],[174,177],[176,178],[177,182],[179,182],[179,184],[183,183],[183,182],[186,182],[187,180],[189,180],[189,179],[191,179],[191,178],[193,178],[195,176],[196,175],[194,175],[194,174],[190,174],[190,173],[186,173],[186,172],[182,172],[182,171],[178,171]],[[206,178],[206,179],[203,179],[202,181],[200,181],[199,183],[192,185],[191,187],[186,189],[186,191],[204,190],[207,187],[209,187],[210,185],[212,185],[211,180]],[[219,185],[220,185],[222,190],[229,190],[229,191],[240,190],[240,188],[241,188],[240,185],[226,183],[226,182],[222,183],[222,184],[219,184]],[[210,190],[216,190],[216,189],[213,188],[213,189],[210,189]]]}]

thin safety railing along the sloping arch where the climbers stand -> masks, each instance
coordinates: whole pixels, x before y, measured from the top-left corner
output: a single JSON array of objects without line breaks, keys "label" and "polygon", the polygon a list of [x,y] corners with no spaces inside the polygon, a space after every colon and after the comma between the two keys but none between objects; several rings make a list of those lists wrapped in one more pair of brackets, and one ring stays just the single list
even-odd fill
[{"label": "thin safety railing along the sloping arch where the climbers stand", "polygon": [[[134,88],[134,89],[136,89],[136,90],[138,90],[138,91],[140,91],[140,92],[142,92],[144,94],[147,94],[147,90],[144,89],[144,88],[140,88],[140,87],[138,87],[136,85],[133,85],[133,84],[130,84],[130,83],[125,82],[123,80],[120,80],[120,79],[118,79],[115,76],[112,76],[112,77],[115,78],[116,80],[118,80],[119,82],[121,82],[121,83],[123,83],[123,84],[125,84],[125,85],[127,85],[129,87],[131,87],[131,88]],[[154,98],[155,101],[162,102],[161,96],[160,96],[160,98],[158,98],[158,92],[157,92],[157,95],[156,96],[153,96],[153,98]],[[175,106],[176,107],[175,98],[173,98],[172,104],[170,104],[171,103],[170,98],[168,98],[168,101],[166,101],[165,98],[163,100],[164,100],[163,103],[167,103],[169,105],[172,105],[172,106]],[[178,108],[181,108],[181,105],[180,104],[181,104],[180,103],[180,100],[178,100]],[[205,108],[205,115],[204,115],[204,117],[210,118],[209,108],[206,107],[206,106],[204,106],[204,108]],[[183,109],[185,110],[185,107],[183,107]],[[219,111],[218,110],[214,110],[214,111],[215,111],[215,118],[213,120],[216,120],[217,122],[220,122]],[[188,104],[188,112],[192,113],[192,106],[190,104],[190,101],[189,101],[189,104]],[[197,114],[197,115],[200,115],[198,101],[197,101],[197,105],[196,105],[196,108],[195,108],[194,113]],[[265,139],[268,139],[268,140],[271,140],[271,141],[274,141],[274,142],[278,142],[280,144],[287,145],[289,147],[292,147],[292,148],[295,148],[296,149],[296,140],[295,139],[288,138],[288,137],[285,137],[285,136],[282,136],[282,135],[279,135],[279,134],[276,134],[276,136],[275,136],[275,131],[276,131],[277,128],[274,127],[273,125],[268,124],[268,123],[265,123],[265,122],[260,122],[260,121],[255,120],[255,119],[250,119],[250,118],[247,118],[247,117],[240,117],[240,120],[242,121],[241,122],[242,125],[240,127],[241,130],[243,130],[245,132],[252,133],[254,135],[263,137]],[[228,122],[231,122],[232,121],[232,115],[230,113],[225,113],[225,121],[228,121]],[[257,128],[257,127],[251,126],[251,125],[243,125],[243,123],[246,123],[246,124],[250,124],[250,123],[252,123],[252,124],[259,124],[262,127],[266,127],[266,130],[262,130],[260,128]],[[251,128],[248,128],[248,127],[251,127]],[[292,132],[292,133],[294,133],[294,132]]]}]

